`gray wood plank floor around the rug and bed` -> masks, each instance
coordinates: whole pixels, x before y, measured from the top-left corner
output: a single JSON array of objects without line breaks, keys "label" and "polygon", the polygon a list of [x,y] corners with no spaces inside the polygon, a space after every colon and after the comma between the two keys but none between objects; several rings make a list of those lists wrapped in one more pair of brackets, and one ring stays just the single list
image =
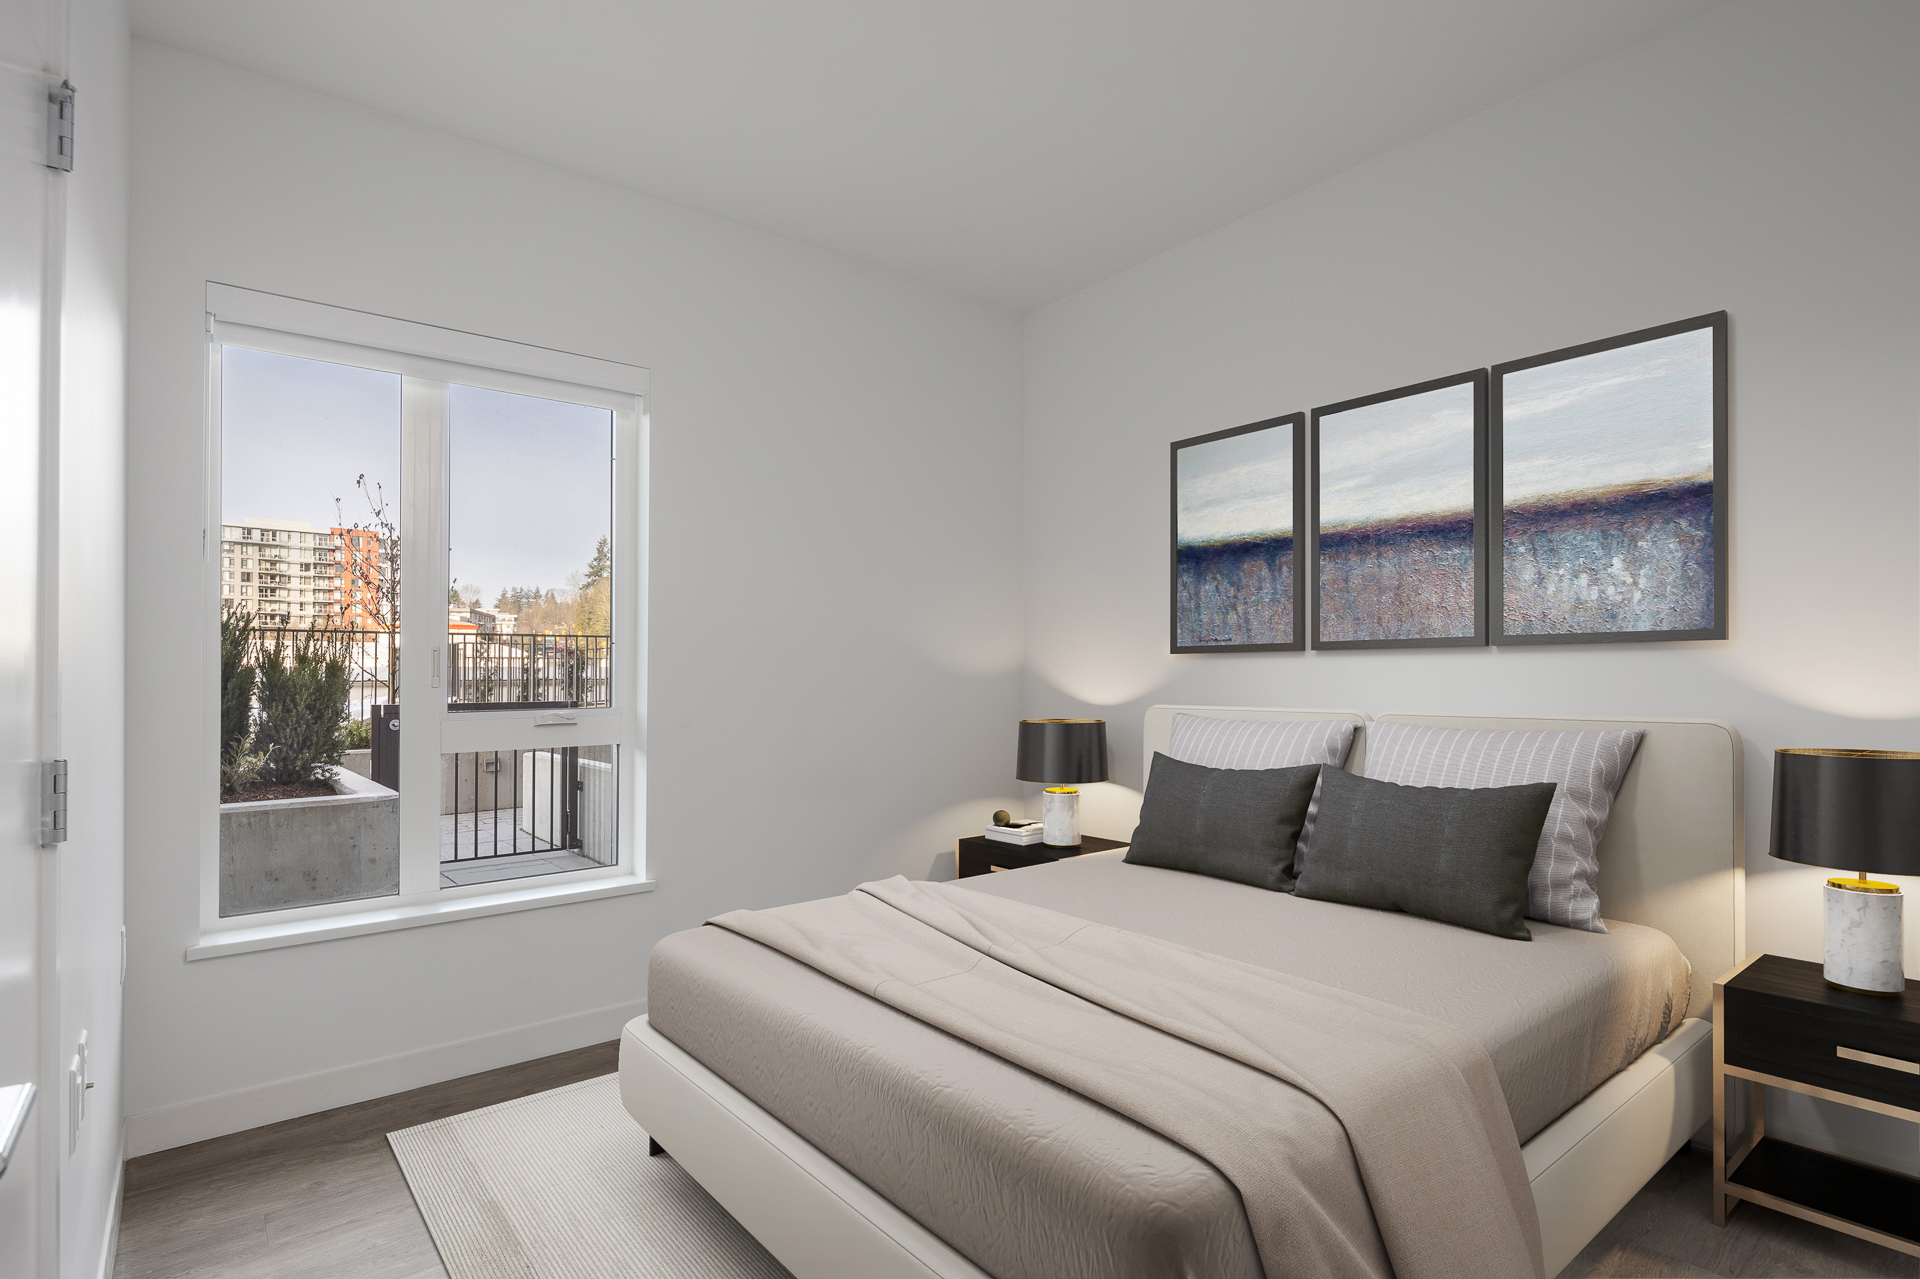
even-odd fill
[{"label": "gray wood plank floor around the rug and bed", "polygon": [[[127,1164],[115,1279],[445,1279],[390,1131],[614,1070],[612,1043]],[[1920,1258],[1741,1204],[1709,1216],[1707,1156],[1682,1150],[1563,1271],[1607,1279],[1874,1275]]]}]

